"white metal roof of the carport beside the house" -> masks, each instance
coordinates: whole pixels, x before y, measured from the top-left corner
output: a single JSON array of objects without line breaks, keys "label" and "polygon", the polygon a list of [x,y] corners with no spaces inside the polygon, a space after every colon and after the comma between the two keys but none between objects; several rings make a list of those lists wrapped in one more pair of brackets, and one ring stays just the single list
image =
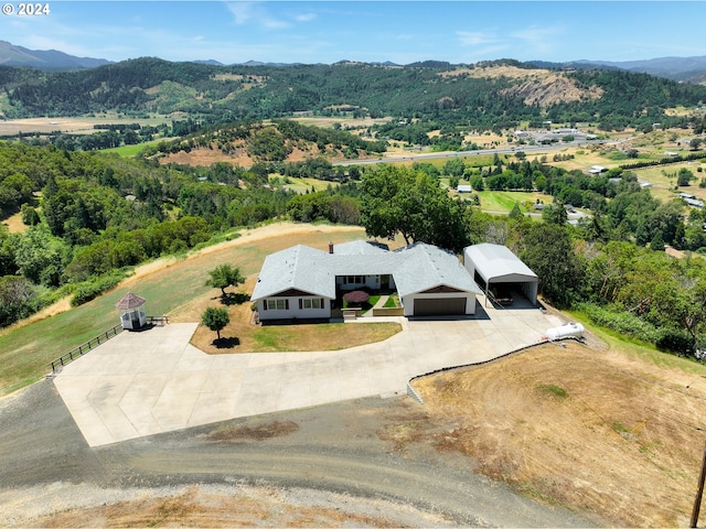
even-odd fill
[{"label": "white metal roof of the carport beside the house", "polygon": [[537,274],[530,270],[510,248],[502,245],[473,245],[466,248],[463,258],[473,262],[483,281],[537,281]]}]

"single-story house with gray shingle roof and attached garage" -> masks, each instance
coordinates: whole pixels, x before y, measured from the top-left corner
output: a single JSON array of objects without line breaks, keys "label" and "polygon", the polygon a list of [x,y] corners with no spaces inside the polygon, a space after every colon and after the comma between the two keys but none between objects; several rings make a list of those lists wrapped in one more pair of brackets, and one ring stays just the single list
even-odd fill
[{"label": "single-story house with gray shingle roof and attached garage", "polygon": [[389,251],[357,240],[267,256],[250,298],[260,321],[329,319],[338,294],[395,289],[405,316],[475,313],[482,291],[456,255],[424,242]]}]

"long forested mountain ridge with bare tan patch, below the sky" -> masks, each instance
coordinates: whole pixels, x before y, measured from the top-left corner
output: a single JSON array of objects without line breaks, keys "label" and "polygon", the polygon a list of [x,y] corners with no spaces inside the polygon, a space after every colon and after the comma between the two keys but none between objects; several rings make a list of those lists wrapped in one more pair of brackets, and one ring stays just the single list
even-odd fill
[{"label": "long forested mountain ridge with bare tan patch, below the sky", "polygon": [[[36,71],[31,78],[0,67],[0,85],[8,118],[183,111],[231,121],[312,111],[498,130],[542,119],[640,127],[668,121],[665,108],[706,101],[706,87],[646,74],[546,71],[515,61],[276,67],[139,58],[82,72]],[[559,97],[534,97],[553,85],[561,87]]]}]

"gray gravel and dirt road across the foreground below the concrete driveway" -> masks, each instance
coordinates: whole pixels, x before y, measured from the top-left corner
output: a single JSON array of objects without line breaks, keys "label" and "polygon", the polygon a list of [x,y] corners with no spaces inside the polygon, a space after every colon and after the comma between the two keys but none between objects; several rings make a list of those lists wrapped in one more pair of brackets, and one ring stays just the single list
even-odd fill
[{"label": "gray gravel and dirt road across the foreground below the concrete driveway", "polygon": [[0,400],[3,527],[586,527],[414,439],[407,397],[89,449],[50,380]]}]

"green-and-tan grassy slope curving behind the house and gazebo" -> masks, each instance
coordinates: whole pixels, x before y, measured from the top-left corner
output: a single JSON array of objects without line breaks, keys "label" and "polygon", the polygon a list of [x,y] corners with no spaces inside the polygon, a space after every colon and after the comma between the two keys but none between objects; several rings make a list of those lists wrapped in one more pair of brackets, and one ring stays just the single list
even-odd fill
[{"label": "green-and-tan grassy slope curving behind the house and gazebo", "polygon": [[[276,230],[277,225],[267,228]],[[234,240],[223,249],[207,248],[190,258],[154,266],[154,272],[130,278],[116,290],[68,312],[3,330],[0,333],[0,397],[39,380],[50,371],[47,366],[53,359],[117,325],[119,316],[115,304],[128,291],[147,299],[150,315],[169,314],[171,321],[197,322],[202,300],[210,301],[216,293],[203,284],[208,278],[207,271],[216,266],[232,263],[255,281],[265,257],[272,251],[295,244],[325,250],[329,240],[335,244],[363,237],[363,229],[330,233],[317,230],[314,226],[309,231],[282,231],[281,236],[250,242]]]}]

